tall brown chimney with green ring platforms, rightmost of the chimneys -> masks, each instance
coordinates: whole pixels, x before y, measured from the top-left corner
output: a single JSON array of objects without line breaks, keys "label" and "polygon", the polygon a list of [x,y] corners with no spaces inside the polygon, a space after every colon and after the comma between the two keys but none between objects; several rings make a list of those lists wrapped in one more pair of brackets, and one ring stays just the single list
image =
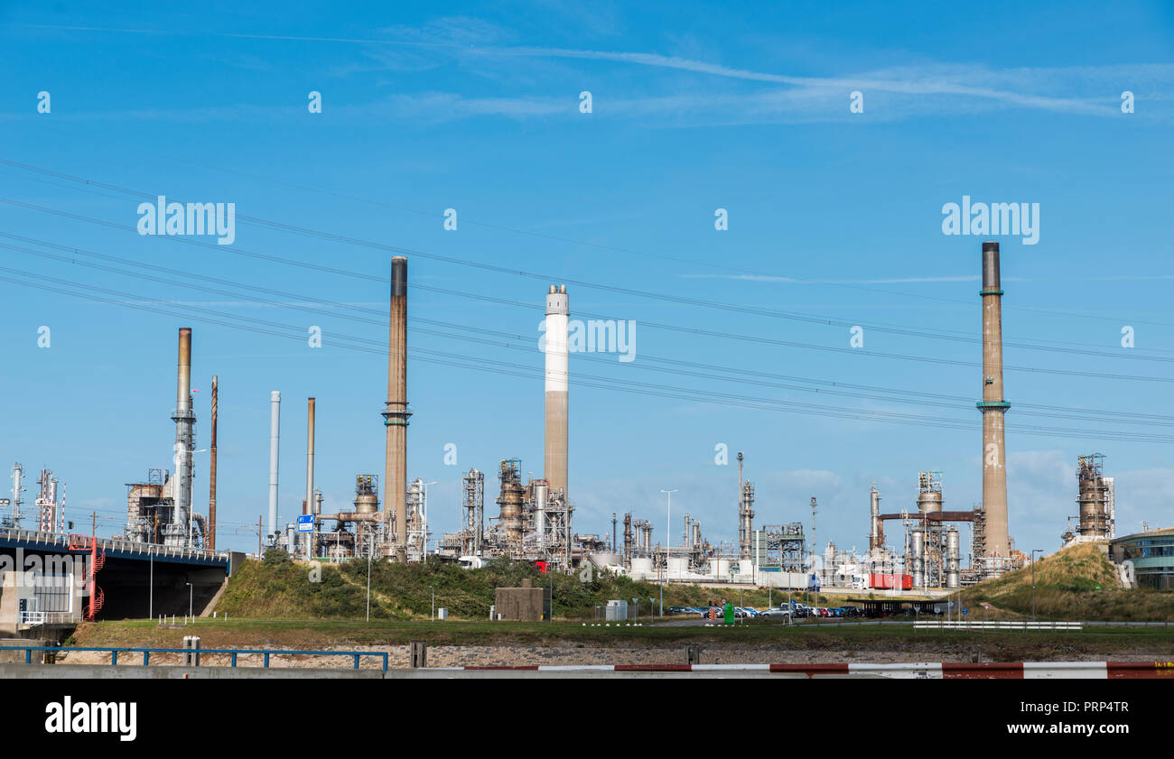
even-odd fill
[{"label": "tall brown chimney with green ring platforms, rightmost of the chimneys", "polygon": [[1007,537],[1007,467],[1003,416],[1011,404],[1003,399],[1003,290],[999,283],[999,244],[983,243],[983,511],[989,556],[1011,554]]}]

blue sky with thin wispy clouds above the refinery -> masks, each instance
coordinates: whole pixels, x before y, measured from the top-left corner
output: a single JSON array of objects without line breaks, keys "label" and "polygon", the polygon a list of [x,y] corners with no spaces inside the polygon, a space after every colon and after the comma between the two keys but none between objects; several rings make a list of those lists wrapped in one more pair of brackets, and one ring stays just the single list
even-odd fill
[{"label": "blue sky with thin wispy clouds above the refinery", "polygon": [[[943,204],[966,195],[1040,205],[1038,244],[997,238],[1004,333],[1023,346],[1008,345],[1006,364],[1032,370],[1005,375],[1018,547],[1058,544],[1081,453],[1106,454],[1122,531],[1168,524],[1174,11],[903,6],[0,5],[0,158],[92,182],[0,163],[0,196],[26,204],[0,203],[0,230],[26,238],[0,238],[25,249],[0,248],[0,462],[53,468],[72,519],[88,523],[96,510],[100,533],[120,529],[124,483],[170,466],[175,334],[193,326],[200,448],[212,374],[221,385],[220,544],[256,545],[272,389],[283,397],[283,517],[304,495],[309,395],[316,482],[328,511],[344,508],[355,474],[383,474],[391,253],[364,244],[376,243],[410,251],[417,285],[409,477],[437,482],[434,531],[456,528],[471,466],[488,473],[487,515],[499,460],[521,458],[540,476],[538,323],[547,285],[566,282],[572,318],[637,325],[630,364],[572,357],[578,531],[607,531],[613,511],[632,510],[664,540],[660,489],[675,488],[675,533],[689,513],[710,540],[735,538],[736,465],[714,461],[724,443],[731,462],[745,453],[757,523],[810,523],[815,495],[821,542],[866,545],[873,481],[884,510],[915,508],[923,469],[943,472],[947,508],[980,499],[983,237],[942,232]],[[321,114],[308,111],[311,90]],[[1125,90],[1134,113],[1121,110]],[[38,113],[40,92],[48,114]],[[852,92],[863,113],[850,113]],[[140,198],[93,182],[231,202],[238,216],[353,242],[241,218],[232,245],[141,237],[108,225],[133,228]],[[456,231],[443,228],[448,208]],[[270,334],[207,319],[284,326]],[[321,348],[306,345],[311,325]],[[855,325],[863,348],[850,348]],[[38,347],[40,326],[52,330],[48,348]],[[1121,346],[1125,326],[1133,348]],[[441,357],[426,351],[498,371],[430,362]],[[633,382],[693,395],[636,394]],[[830,382],[904,394],[828,394]],[[802,404],[836,415],[799,413],[810,411]],[[1040,427],[1061,432],[1032,434]],[[446,443],[457,466],[444,463]],[[196,462],[203,510],[207,454]]]}]

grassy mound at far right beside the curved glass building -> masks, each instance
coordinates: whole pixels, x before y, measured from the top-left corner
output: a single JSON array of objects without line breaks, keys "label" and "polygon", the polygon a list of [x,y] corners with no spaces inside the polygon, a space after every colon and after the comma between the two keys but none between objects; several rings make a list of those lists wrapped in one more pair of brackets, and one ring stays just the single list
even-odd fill
[{"label": "grassy mound at far right beside the curved glass building", "polygon": [[[983,618],[1031,618],[1031,567],[989,580],[962,592],[963,605]],[[1174,622],[1174,594],[1125,590],[1116,568],[1097,543],[1066,548],[1035,562],[1035,617],[1078,622]]]}]

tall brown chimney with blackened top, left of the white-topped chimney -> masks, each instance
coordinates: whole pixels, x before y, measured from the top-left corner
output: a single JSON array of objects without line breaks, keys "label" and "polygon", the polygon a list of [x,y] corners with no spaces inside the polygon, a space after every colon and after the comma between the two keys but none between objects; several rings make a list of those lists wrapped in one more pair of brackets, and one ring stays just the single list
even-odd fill
[{"label": "tall brown chimney with blackened top, left of the white-topped chimney", "polygon": [[391,259],[391,323],[387,334],[387,405],[383,423],[387,433],[383,473],[383,519],[396,515],[396,558],[407,561],[407,259]]}]

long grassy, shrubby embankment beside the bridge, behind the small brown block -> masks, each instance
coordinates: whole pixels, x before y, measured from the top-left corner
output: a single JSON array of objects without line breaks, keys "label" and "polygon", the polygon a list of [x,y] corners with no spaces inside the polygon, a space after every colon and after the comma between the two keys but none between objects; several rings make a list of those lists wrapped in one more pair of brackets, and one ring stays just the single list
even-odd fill
[{"label": "long grassy, shrubby embankment beside the bridge, behind the small brown block", "polygon": [[[484,569],[461,569],[440,561],[420,564],[371,562],[371,619],[427,619],[432,614],[432,594],[436,608],[446,608],[454,618],[488,619],[494,602],[494,589],[517,588],[524,580],[545,588],[554,583],[554,617],[556,619],[592,619],[595,606],[603,606],[612,598],[629,603],[640,598],[641,616],[648,614],[649,598],[660,605],[660,585],[636,582],[609,572],[592,571],[589,580],[580,572],[544,575],[528,563],[498,560]],[[366,560],[339,564],[322,564],[311,572],[305,563],[289,561],[278,551],[270,551],[264,561],[247,561],[229,580],[228,589],[216,604],[216,611],[232,617],[263,617],[269,619],[365,619],[366,618]],[[317,582],[315,581],[317,580]],[[702,588],[697,585],[664,585],[664,608],[706,606],[710,601],[727,598],[735,605],[767,608],[787,599],[785,591],[733,588]],[[826,605],[829,596],[791,594],[803,603]],[[839,605],[842,602],[835,602]]]}]

